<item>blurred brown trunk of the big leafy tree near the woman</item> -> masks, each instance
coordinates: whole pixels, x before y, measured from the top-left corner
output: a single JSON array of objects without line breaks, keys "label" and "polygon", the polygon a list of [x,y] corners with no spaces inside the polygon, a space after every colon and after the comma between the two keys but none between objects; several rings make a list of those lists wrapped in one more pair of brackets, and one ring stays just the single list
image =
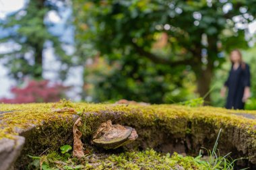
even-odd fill
[{"label": "blurred brown trunk of the big leafy tree near the woman", "polygon": [[212,65],[207,65],[206,69],[199,69],[196,73],[197,76],[197,93],[200,97],[205,97],[205,104],[210,105],[210,85],[213,77]]}]

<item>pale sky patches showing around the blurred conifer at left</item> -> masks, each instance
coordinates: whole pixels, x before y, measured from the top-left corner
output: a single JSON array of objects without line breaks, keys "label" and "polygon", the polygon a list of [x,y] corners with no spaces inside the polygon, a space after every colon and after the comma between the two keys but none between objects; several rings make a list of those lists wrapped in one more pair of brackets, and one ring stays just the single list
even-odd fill
[{"label": "pale sky patches showing around the blurred conifer at left", "polygon": [[[0,19],[5,19],[8,13],[13,11],[17,11],[24,7],[26,0],[0,0]],[[65,40],[66,42],[72,42],[73,37],[71,29],[65,29],[64,23],[65,19],[67,19],[68,15],[71,13],[70,9],[67,9],[63,12],[62,18],[60,18],[55,11],[50,11],[48,14],[48,18],[51,22],[53,22],[56,26],[52,28],[51,32],[53,34],[61,34],[65,35],[61,37],[61,40]],[[1,32],[0,32],[1,34]],[[0,35],[1,36],[1,35]],[[13,48],[13,44],[0,44],[0,52],[6,51],[10,48]],[[68,46],[69,52],[72,52],[72,47]],[[60,67],[60,63],[55,59],[53,54],[53,48],[47,48],[44,50],[44,79],[49,79],[52,82],[57,80],[56,71],[58,67]],[[54,69],[53,69],[54,68]],[[7,68],[3,66],[3,59],[0,59],[0,98],[2,97],[12,97],[9,92],[10,87],[15,85],[15,81],[9,79],[7,75]],[[79,100],[79,93],[82,90],[82,67],[71,68],[67,80],[63,83],[64,85],[73,85],[72,91],[67,93],[68,97],[73,100]]]}]

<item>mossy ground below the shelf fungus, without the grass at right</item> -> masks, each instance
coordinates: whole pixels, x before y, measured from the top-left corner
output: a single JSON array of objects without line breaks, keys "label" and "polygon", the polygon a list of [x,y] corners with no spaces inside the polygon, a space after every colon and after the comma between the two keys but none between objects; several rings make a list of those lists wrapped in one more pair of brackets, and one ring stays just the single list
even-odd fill
[{"label": "mossy ground below the shelf fungus, without the grass at right", "polygon": [[206,168],[199,164],[193,157],[183,157],[174,153],[173,155],[160,154],[152,149],[141,152],[125,152],[119,154],[87,154],[80,160],[65,157],[58,153],[49,153],[42,157],[35,157],[28,166],[29,169],[39,169],[40,163],[43,170],[50,169],[162,169],[162,170],[203,170]]}]

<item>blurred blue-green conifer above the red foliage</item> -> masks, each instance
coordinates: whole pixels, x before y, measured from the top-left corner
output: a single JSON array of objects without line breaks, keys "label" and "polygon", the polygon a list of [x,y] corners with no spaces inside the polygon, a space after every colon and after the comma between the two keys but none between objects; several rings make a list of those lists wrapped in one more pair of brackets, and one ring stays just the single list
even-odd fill
[{"label": "blurred blue-green conifer above the red foliage", "polygon": [[[0,21],[0,43],[11,43],[11,50],[0,54],[5,58],[9,73],[16,80],[25,76],[42,79],[44,49],[52,46],[55,56],[65,64],[70,63],[62,48],[59,36],[50,32],[54,24],[49,21],[49,11],[61,13],[65,0],[26,1],[23,9],[11,13]],[[64,74],[67,72],[65,69]]]}]

